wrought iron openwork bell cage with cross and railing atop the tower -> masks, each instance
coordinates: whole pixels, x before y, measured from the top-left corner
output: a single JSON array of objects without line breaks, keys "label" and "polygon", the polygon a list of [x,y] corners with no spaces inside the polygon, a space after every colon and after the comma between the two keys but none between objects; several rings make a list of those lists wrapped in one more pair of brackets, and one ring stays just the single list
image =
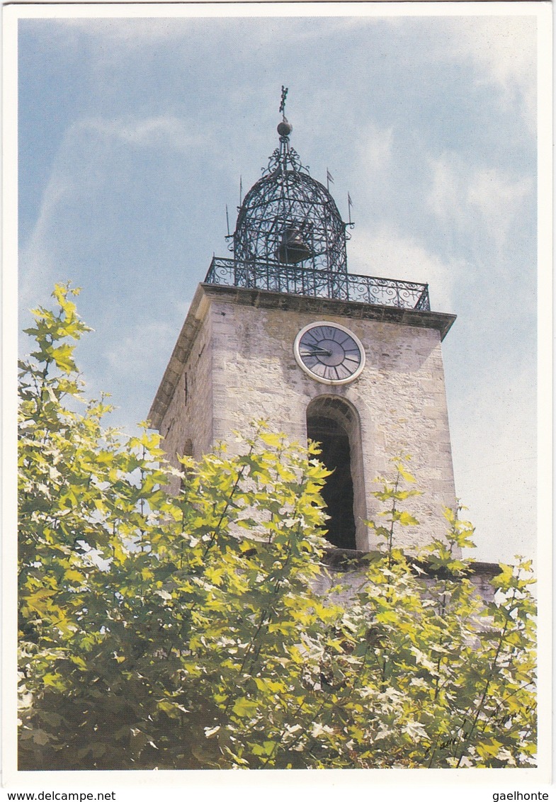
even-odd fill
[{"label": "wrought iron openwork bell cage with cross and railing atop the tower", "polygon": [[233,259],[214,257],[209,284],[429,310],[428,286],[347,272],[345,223],[328,189],[290,145],[282,87],[279,145],[247,192],[229,235]]}]

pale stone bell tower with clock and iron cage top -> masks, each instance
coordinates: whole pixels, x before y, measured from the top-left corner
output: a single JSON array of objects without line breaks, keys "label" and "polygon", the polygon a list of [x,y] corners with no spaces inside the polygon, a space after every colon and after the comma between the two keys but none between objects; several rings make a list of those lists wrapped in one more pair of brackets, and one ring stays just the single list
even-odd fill
[{"label": "pale stone bell tower with clock and iron cage top", "polygon": [[455,504],[440,352],[455,316],[430,310],[427,285],[347,272],[351,221],[290,146],[286,92],[278,148],[238,210],[233,258],[214,257],[197,287],[149,419],[175,464],[254,419],[318,440],[334,469],[328,538],[342,549],[372,548],[373,480],[409,454],[423,495],[404,545],[428,542]]}]

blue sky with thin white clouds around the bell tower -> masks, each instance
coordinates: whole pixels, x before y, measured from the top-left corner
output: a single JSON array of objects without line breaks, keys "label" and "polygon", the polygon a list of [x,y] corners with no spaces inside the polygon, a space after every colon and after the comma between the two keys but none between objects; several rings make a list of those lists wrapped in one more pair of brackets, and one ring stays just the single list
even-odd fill
[{"label": "blue sky with thin white clouds around the bell tower", "polygon": [[302,164],[329,170],[344,220],[353,201],[350,273],[428,282],[457,314],[443,357],[475,556],[532,557],[539,4],[387,5],[21,18],[19,326],[55,282],[80,286],[87,393],[133,431],[213,253],[230,255],[225,205],[233,230],[240,176],[245,192],[278,145],[283,84]]}]

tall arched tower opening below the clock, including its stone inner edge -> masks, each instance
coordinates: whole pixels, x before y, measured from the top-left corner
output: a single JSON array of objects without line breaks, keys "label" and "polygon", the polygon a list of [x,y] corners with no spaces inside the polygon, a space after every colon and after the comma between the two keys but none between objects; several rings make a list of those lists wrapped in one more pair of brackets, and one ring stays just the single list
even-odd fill
[{"label": "tall arched tower opening below the clock, including its stone inner edge", "polygon": [[[340,549],[356,549],[356,514],[362,504],[363,477],[354,487],[359,419],[355,409],[337,397],[320,396],[307,407],[307,438],[321,444],[319,460],[332,471],[323,488],[327,505],[327,538]],[[359,448],[360,451],[360,448]]]}]

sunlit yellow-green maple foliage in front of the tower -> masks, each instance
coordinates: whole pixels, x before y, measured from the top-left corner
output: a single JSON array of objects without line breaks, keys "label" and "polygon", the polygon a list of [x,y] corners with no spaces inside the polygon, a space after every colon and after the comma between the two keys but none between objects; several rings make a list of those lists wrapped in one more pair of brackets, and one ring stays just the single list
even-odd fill
[{"label": "sunlit yellow-green maple foliage in front of the tower", "polygon": [[449,510],[444,541],[404,554],[400,458],[381,547],[319,592],[318,449],[261,423],[238,454],[185,457],[168,496],[159,436],[83,399],[75,294],[35,311],[20,366],[20,768],[533,764],[530,564],[483,602]]}]

